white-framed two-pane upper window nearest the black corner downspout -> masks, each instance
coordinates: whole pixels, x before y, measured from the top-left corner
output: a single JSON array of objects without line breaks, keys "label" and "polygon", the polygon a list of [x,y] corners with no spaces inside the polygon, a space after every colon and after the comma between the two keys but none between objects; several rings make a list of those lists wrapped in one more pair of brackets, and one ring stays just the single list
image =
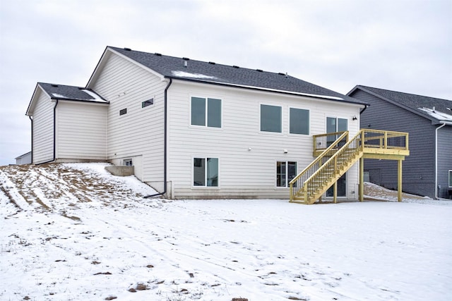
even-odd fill
[{"label": "white-framed two-pane upper window nearest the black corner downspout", "polygon": [[191,125],[221,128],[221,99],[191,97]]}]

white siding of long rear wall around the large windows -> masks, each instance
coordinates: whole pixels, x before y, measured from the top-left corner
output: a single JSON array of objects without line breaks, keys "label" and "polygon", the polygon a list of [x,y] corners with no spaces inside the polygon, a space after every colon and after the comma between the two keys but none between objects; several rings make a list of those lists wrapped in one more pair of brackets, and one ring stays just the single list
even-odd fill
[{"label": "white siding of long rear wall around the large windows", "polygon": [[[222,99],[222,128],[190,124],[192,96]],[[283,133],[260,131],[260,104],[282,106]],[[290,107],[309,110],[310,135],[289,134]],[[168,122],[168,180],[173,197],[287,199],[288,188],[276,188],[276,162],[297,161],[298,171],[311,163],[312,135],[326,133],[326,116],[347,118],[351,135],[359,130],[359,123],[352,121],[352,116],[359,116],[356,105],[174,81],[169,88]],[[219,159],[220,187],[192,187],[194,157]],[[348,174],[347,197],[357,197],[352,194],[357,181],[355,166]]]}]

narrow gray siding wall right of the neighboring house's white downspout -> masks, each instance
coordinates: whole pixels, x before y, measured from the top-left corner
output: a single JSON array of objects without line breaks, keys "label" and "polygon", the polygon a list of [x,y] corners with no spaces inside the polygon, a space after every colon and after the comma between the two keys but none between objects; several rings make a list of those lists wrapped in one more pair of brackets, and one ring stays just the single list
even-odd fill
[{"label": "narrow gray siding wall right of the neighboring house's white downspout", "polygon": [[[438,126],[438,125],[436,125]],[[448,171],[452,170],[452,126],[438,130],[438,196],[448,198]]]}]

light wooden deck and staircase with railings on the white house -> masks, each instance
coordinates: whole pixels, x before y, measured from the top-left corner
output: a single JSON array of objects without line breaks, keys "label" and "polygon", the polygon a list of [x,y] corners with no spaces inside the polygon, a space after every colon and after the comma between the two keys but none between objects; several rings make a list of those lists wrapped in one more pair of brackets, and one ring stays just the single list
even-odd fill
[{"label": "light wooden deck and staircase with railings on the white house", "polygon": [[409,154],[408,133],[359,130],[351,140],[348,134],[346,131],[314,137],[314,156],[319,156],[290,181],[290,202],[314,204],[363,156],[404,159]]}]

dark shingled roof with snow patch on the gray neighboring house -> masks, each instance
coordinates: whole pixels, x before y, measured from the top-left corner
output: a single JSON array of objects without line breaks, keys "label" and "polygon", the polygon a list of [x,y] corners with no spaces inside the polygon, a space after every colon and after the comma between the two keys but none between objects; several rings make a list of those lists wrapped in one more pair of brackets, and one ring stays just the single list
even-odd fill
[{"label": "dark shingled roof with snow patch on the gray neighboring house", "polygon": [[386,101],[393,102],[394,104],[398,104],[399,106],[405,107],[405,109],[409,109],[425,118],[429,118],[431,120],[444,120],[441,116],[437,116],[434,113],[429,113],[426,110],[422,110],[422,108],[433,109],[436,112],[441,112],[447,115],[452,116],[452,101],[448,99],[440,99],[434,97],[427,97],[417,94],[409,94],[403,92],[396,92],[391,90],[384,90],[374,87],[367,87],[363,85],[357,85],[352,91],[348,92],[348,94],[352,94],[356,89],[360,89],[366,92],[371,92],[376,96],[385,99]]}]

